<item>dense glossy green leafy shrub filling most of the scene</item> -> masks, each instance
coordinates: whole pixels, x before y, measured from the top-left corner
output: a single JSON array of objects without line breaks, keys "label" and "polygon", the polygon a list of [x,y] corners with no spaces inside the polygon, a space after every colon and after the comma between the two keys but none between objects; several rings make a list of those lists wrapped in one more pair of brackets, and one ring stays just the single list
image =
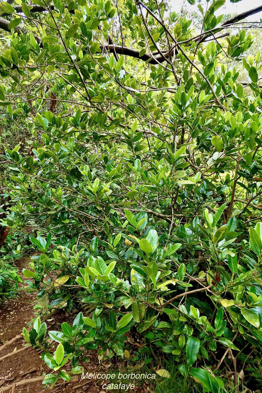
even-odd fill
[{"label": "dense glossy green leafy shrub filling most of the scene", "polygon": [[[262,95],[246,24],[221,25],[224,0],[199,5],[201,31],[155,0],[15,4],[0,3],[0,218],[18,243],[31,235],[39,309],[79,310],[49,332],[54,356],[45,324],[24,329],[54,370],[44,383],[96,348],[168,354],[212,392],[228,349],[248,381],[262,344]],[[144,339],[132,354],[130,335]]]}]

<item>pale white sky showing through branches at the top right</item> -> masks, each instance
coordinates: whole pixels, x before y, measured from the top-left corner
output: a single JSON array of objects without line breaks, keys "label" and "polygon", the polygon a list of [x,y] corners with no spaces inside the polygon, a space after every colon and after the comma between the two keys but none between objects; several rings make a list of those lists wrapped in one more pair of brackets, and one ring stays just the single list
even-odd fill
[{"label": "pale white sky showing through branches at the top right", "polygon": [[[172,4],[173,11],[178,12],[181,9],[183,0],[170,0],[170,3]],[[188,8],[197,9],[196,6],[191,6],[188,2],[186,3]],[[204,4],[204,1],[202,1],[201,3]],[[260,5],[262,5],[262,0],[242,0],[238,3],[231,3],[230,0],[226,0],[224,6],[219,9],[218,14],[219,15],[222,13],[240,14],[244,11],[258,7]],[[256,20],[260,20],[260,18],[262,18],[262,12],[259,12],[255,15],[251,15],[250,17],[247,18],[247,20],[251,22],[255,22]]]}]

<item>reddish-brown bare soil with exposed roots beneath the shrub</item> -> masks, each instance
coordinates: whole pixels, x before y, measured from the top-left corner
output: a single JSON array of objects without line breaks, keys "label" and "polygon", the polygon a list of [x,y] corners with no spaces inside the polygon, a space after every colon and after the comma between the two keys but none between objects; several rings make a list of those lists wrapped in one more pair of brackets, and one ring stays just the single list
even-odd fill
[{"label": "reddish-brown bare soil with exposed roots beneath the shrub", "polygon": [[[29,261],[30,258],[22,258],[17,261],[17,267],[20,273],[23,268],[28,267]],[[21,336],[22,328],[26,327],[37,314],[33,310],[35,294],[27,293],[23,288],[23,284],[20,283],[19,286],[20,293],[18,298],[8,299],[0,305],[0,393],[25,393],[26,391],[40,393],[43,389],[41,376],[43,373],[51,373],[52,370],[41,360],[40,351],[33,349],[31,346],[24,347],[26,342]],[[50,316],[46,320],[48,330],[59,330],[61,323],[65,320],[68,321],[68,316],[63,313]],[[8,345],[5,346],[7,342]],[[2,359],[6,355],[9,356]],[[104,371],[109,373],[111,368],[115,370],[119,367],[120,369],[121,364],[118,364],[118,367],[109,363],[99,364],[96,351],[92,351],[89,354],[89,362],[85,363],[83,367],[85,373],[98,370],[99,372]],[[23,384],[19,385],[19,382]],[[108,384],[109,382],[93,379],[81,381],[81,375],[75,375],[72,377],[70,383],[62,383],[62,380],[58,380],[51,392],[107,393],[110,391],[114,393],[126,391],[121,389],[107,389],[104,391],[102,386],[105,383]],[[124,381],[123,383],[128,383],[128,381]],[[148,383],[144,383],[143,385],[136,386],[132,390],[128,389],[127,392],[150,393],[152,390]]]}]

